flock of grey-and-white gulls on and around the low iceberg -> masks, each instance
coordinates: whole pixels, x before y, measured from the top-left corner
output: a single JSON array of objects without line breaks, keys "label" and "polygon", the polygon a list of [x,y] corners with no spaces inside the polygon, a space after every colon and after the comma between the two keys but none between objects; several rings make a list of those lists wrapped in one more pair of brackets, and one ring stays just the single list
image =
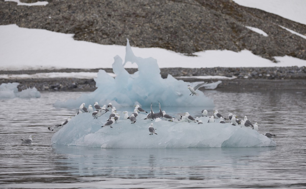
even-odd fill
[{"label": "flock of grey-and-white gulls on and around the low iceberg", "polygon": [[[196,90],[199,89],[201,86],[203,86],[205,84],[207,84],[207,82],[204,82],[204,83],[201,83],[199,85],[196,85],[195,87],[192,87],[192,86],[188,85],[188,89],[191,92],[190,95],[198,96],[199,94],[196,93]],[[202,123],[202,120],[199,120],[198,117],[196,119],[194,119],[188,112],[177,113],[177,114],[175,114],[175,117],[173,117],[171,115],[168,115],[168,114],[166,114],[165,111],[162,111],[159,102],[158,102],[158,104],[159,104],[159,112],[158,113],[154,113],[153,112],[153,110],[152,110],[152,103],[151,103],[151,112],[150,113],[148,113],[147,111],[142,109],[140,107],[140,105],[137,104],[135,106],[134,112],[131,115],[128,115],[127,111],[123,112],[125,114],[124,117],[123,117],[123,120],[130,120],[131,123],[136,123],[136,118],[138,116],[138,112],[143,112],[143,113],[148,113],[147,117],[145,119],[149,119],[151,121],[153,121],[154,119],[160,119],[160,120],[164,119],[164,120],[172,121],[172,122],[175,122],[175,123],[180,123],[180,122],[194,122],[194,123],[197,123],[197,124],[201,124]],[[93,108],[95,108],[95,110]],[[109,116],[108,120],[106,120],[106,123],[103,126],[101,126],[101,127],[110,126],[111,128],[113,128],[112,125],[117,123],[117,121],[120,119],[120,115],[118,113],[116,113],[117,110],[116,110],[116,108],[114,106],[112,106],[112,103],[109,103],[107,106],[103,105],[101,107],[98,104],[98,102],[95,102],[93,107],[90,104],[88,106],[88,108],[85,107],[85,103],[82,103],[80,105],[80,108],[79,108],[79,111],[77,112],[77,114],[84,113],[84,112],[92,112],[93,119],[98,119],[98,117],[104,115],[106,112],[109,112],[109,111],[111,112],[110,116]],[[204,117],[204,116],[207,117],[208,111],[207,110],[202,110],[201,114],[202,114],[202,117]],[[215,119],[219,119],[219,123],[226,123],[227,119],[225,117],[223,117],[218,112],[218,110],[215,110],[213,112],[213,114],[214,115],[211,115],[211,117],[208,119],[207,123],[215,123]],[[51,130],[51,131],[56,130],[56,129],[60,129],[63,126],[65,126],[70,121],[70,119],[71,119],[71,117],[68,116],[68,119],[64,123],[58,124],[58,125],[54,125],[54,127],[52,127],[52,128],[48,127],[48,129]],[[244,116],[244,119],[240,120],[240,119],[238,119],[237,115],[233,115],[232,113],[230,113],[228,115],[228,119],[229,119],[230,123],[233,126],[236,126],[236,124],[237,124],[237,125],[241,125],[240,127],[247,127],[247,128],[250,128],[250,129],[258,131],[258,123],[254,123],[254,125],[253,125],[248,120],[247,116]],[[149,132],[150,132],[150,135],[151,134],[157,134],[157,133],[155,133],[155,129],[153,128],[153,123],[151,123],[150,126],[149,126]],[[267,136],[268,138],[276,136],[276,135],[271,134],[269,132],[265,133],[264,135]],[[28,142],[28,143],[32,142],[32,135],[30,135],[28,139],[21,139],[21,140],[23,142]]]}]

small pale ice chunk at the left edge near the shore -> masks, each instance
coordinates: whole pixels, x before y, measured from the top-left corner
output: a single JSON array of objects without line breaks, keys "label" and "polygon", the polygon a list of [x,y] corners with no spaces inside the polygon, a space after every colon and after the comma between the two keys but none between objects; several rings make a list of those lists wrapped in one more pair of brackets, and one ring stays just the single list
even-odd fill
[{"label": "small pale ice chunk at the left edge near the shore", "polygon": [[40,98],[40,93],[35,87],[24,89],[18,92],[17,86],[19,83],[2,83],[0,85],[0,99],[1,98]]}]

